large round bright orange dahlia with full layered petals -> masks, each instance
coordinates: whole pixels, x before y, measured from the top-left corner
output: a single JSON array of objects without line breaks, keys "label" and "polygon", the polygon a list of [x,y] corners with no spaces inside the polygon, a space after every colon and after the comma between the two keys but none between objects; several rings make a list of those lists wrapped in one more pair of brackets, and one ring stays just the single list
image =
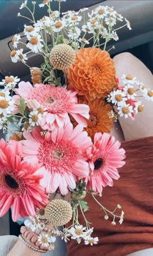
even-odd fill
[{"label": "large round bright orange dahlia with full layered petals", "polygon": [[68,88],[86,98],[104,98],[116,86],[115,66],[107,51],[83,48],[67,70]]}]

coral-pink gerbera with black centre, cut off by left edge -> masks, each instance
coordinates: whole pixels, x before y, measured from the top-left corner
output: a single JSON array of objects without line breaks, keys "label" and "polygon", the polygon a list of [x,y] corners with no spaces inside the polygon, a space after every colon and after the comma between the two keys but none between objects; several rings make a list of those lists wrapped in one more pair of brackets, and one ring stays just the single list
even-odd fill
[{"label": "coral-pink gerbera with black centre, cut off by left edge", "polygon": [[36,175],[37,165],[22,160],[22,145],[17,141],[0,141],[0,217],[12,206],[12,219],[34,216],[37,208],[48,203],[42,175]]}]

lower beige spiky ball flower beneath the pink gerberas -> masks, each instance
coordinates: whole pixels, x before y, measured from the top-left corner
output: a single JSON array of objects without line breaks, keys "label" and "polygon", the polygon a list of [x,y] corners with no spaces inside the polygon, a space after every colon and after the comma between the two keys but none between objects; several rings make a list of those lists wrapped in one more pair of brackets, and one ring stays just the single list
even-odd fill
[{"label": "lower beige spiky ball flower beneath the pink gerberas", "polygon": [[65,225],[71,220],[72,214],[71,205],[62,199],[54,199],[45,208],[45,216],[54,226]]}]

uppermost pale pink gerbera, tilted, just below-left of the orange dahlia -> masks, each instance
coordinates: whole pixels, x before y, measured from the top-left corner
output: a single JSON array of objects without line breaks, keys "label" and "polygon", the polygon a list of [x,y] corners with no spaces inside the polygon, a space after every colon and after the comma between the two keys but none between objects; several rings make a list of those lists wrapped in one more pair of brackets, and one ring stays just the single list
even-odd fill
[{"label": "uppermost pale pink gerbera, tilted, just below-left of the orange dahlia", "polygon": [[[30,103],[32,100],[38,102],[40,106],[47,111],[47,115],[42,117],[40,125],[43,130],[54,130],[64,124],[69,115],[78,122],[86,126],[86,119],[89,119],[89,106],[86,104],[77,104],[77,92],[68,91],[65,87],[53,87],[52,85],[36,84],[34,87],[29,83],[19,83],[16,92]],[[18,102],[18,98],[14,99]]]}]

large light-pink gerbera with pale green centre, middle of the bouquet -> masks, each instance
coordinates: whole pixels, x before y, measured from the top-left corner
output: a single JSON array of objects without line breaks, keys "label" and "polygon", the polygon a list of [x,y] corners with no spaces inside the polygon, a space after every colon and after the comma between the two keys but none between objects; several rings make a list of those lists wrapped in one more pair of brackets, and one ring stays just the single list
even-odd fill
[{"label": "large light-pink gerbera with pale green centre, middle of the bouquet", "polygon": [[36,127],[32,133],[24,132],[23,152],[25,160],[41,164],[38,173],[43,173],[40,184],[47,193],[54,193],[57,188],[65,195],[68,186],[76,187],[79,178],[88,177],[89,164],[84,157],[85,150],[92,145],[87,132],[82,126],[73,129],[71,122],[53,132],[40,135],[41,129]]}]

